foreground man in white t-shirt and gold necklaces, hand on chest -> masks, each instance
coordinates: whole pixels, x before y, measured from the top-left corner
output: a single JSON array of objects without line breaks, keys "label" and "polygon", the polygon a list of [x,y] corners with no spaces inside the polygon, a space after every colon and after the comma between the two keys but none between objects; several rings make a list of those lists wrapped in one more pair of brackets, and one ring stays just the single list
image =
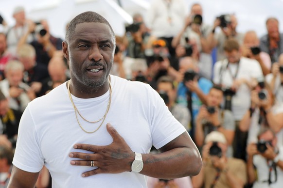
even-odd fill
[{"label": "foreground man in white t-shirt and gold necklaces, hand on chest", "polygon": [[[114,49],[115,34],[104,17],[85,12],[70,22],[63,52],[71,81],[25,110],[11,188],[34,187],[43,165],[53,187],[74,188],[146,187],[144,175],[172,179],[199,172],[194,142],[159,94],[109,76]],[[163,153],[148,154],[152,145]]]}]

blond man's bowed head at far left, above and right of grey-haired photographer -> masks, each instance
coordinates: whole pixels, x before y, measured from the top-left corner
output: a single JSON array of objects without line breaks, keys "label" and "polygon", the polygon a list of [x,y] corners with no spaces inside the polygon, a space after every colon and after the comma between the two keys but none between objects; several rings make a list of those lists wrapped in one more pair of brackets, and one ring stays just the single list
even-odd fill
[{"label": "blond man's bowed head at far left, above and right of grey-haired photographer", "polygon": [[30,70],[35,66],[35,48],[32,45],[24,44],[18,49],[18,60],[23,63],[24,70]]}]

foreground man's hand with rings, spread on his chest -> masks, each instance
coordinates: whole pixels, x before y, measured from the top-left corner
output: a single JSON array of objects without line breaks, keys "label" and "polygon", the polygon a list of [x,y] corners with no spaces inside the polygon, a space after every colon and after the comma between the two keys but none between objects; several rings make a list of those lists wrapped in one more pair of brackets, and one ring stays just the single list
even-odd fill
[{"label": "foreground man's hand with rings, spread on his chest", "polygon": [[113,138],[113,142],[106,146],[97,146],[90,144],[75,144],[75,149],[82,149],[93,152],[93,154],[71,152],[70,157],[80,158],[82,160],[71,160],[74,166],[89,166],[91,160],[97,169],[84,172],[83,177],[99,173],[121,173],[130,172],[131,164],[135,159],[135,154],[119,135],[119,133],[110,124],[106,125],[107,131]]}]

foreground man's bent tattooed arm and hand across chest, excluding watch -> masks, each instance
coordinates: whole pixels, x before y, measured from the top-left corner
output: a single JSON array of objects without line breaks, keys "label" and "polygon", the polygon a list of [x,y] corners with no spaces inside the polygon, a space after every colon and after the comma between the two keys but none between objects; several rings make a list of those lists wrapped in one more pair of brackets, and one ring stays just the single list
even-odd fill
[{"label": "foreground man's bent tattooed arm and hand across chest, excluding watch", "polygon": [[[79,152],[70,154],[70,157],[83,159],[71,160],[71,165],[90,166],[90,161],[93,160],[94,166],[98,167],[95,170],[84,172],[83,177],[99,173],[131,172],[131,164],[135,158],[134,152],[110,124],[107,124],[107,131],[113,138],[110,145],[74,145],[75,149],[94,152],[93,154]],[[160,179],[175,179],[196,175],[201,169],[200,154],[187,131],[161,147],[159,151],[162,153],[142,154],[144,165],[141,174]]]}]

